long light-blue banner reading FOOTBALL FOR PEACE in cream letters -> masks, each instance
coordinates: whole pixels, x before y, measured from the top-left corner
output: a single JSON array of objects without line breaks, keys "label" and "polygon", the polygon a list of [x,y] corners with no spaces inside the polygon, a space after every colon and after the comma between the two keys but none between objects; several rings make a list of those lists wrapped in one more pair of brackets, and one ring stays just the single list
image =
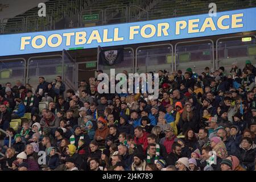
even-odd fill
[{"label": "long light-blue banner reading FOOTBALL FOR PEACE in cream letters", "polygon": [[0,56],[120,46],[256,30],[256,8],[144,22],[0,35]]}]

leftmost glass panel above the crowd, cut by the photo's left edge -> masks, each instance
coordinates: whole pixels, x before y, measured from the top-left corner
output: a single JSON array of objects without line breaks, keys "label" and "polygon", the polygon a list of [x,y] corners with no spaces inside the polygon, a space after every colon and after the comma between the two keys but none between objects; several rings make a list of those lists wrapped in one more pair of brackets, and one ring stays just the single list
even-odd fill
[{"label": "leftmost glass panel above the crowd, cut by the photo's left edge", "polygon": [[11,82],[14,86],[16,80],[24,82],[24,69],[24,60],[0,60],[0,84],[5,86],[6,82]]}]

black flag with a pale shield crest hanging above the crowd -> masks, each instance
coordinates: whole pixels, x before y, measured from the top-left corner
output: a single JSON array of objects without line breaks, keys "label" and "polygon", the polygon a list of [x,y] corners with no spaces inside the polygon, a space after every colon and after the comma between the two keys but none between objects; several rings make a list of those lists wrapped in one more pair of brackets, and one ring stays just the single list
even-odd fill
[{"label": "black flag with a pale shield crest hanging above the crowd", "polygon": [[123,49],[115,49],[104,51],[100,48],[99,64],[101,65],[114,65],[122,63],[123,61]]}]

